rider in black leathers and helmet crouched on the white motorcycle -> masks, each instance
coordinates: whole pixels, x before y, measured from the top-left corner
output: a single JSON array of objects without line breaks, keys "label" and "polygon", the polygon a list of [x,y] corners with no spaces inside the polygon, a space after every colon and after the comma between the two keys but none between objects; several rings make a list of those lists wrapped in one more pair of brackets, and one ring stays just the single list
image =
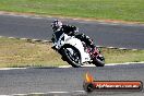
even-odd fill
[{"label": "rider in black leathers and helmet crouched on the white motorcycle", "polygon": [[93,40],[84,34],[77,34],[77,32],[79,32],[77,27],[71,26],[71,25],[63,25],[62,22],[59,20],[55,20],[52,22],[51,26],[52,26],[53,32],[61,32],[61,33],[68,34],[69,36],[75,36],[76,38],[84,41],[87,46],[89,46],[92,48],[91,52],[94,51],[95,45],[94,45]]}]

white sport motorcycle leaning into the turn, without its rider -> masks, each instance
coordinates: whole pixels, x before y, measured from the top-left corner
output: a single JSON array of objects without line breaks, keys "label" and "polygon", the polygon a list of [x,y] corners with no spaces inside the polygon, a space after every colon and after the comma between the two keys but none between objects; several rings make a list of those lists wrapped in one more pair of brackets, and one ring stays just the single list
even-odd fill
[{"label": "white sport motorcycle leaning into the turn, without its rider", "polygon": [[74,36],[56,32],[52,34],[51,40],[53,43],[52,49],[57,50],[62,56],[62,60],[73,68],[80,68],[85,63],[93,63],[96,67],[105,65],[105,58],[98,48],[95,48],[94,52],[91,53],[92,48]]}]

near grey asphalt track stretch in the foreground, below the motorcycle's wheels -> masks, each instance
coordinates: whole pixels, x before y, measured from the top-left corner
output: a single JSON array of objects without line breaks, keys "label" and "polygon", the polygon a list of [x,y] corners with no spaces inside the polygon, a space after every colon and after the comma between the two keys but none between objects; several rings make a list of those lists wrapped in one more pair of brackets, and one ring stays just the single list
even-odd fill
[{"label": "near grey asphalt track stretch in the foreground, below the motorcycle's wheels", "polygon": [[[144,92],[82,93],[83,81],[89,72],[96,81],[142,81],[144,64],[106,65],[104,68],[29,68],[0,70],[0,95],[68,92],[50,96],[143,96]],[[77,92],[76,92],[77,91]],[[73,93],[72,93],[73,92]],[[57,94],[57,93],[56,93]],[[69,94],[69,95],[68,95]],[[49,96],[49,95],[48,95]]]}]

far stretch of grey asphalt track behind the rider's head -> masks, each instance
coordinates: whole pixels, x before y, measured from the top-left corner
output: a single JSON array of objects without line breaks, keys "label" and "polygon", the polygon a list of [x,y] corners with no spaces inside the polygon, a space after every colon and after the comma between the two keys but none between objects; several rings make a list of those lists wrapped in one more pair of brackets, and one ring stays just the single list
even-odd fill
[{"label": "far stretch of grey asphalt track behind the rider's head", "polygon": [[[1,14],[0,35],[49,40],[52,34],[50,24],[53,20],[53,17]],[[144,49],[144,25],[73,20],[61,21],[64,24],[77,26],[80,33],[88,35],[98,46]]]}]

